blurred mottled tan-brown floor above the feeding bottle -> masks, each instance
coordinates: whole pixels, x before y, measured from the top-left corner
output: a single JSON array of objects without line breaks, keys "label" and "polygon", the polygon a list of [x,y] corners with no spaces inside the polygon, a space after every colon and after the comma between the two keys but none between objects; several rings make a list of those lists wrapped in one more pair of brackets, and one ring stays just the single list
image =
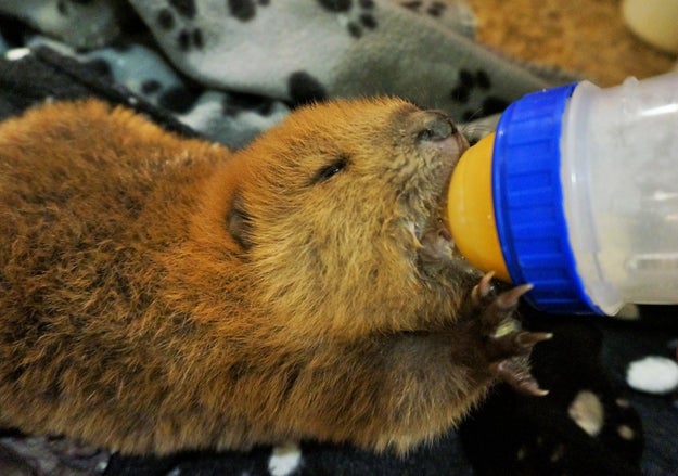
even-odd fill
[{"label": "blurred mottled tan-brown floor above the feeding bottle", "polygon": [[[625,25],[621,0],[465,1],[478,17],[479,42],[514,57],[580,73],[600,86],[676,66],[675,54],[644,42]],[[678,31],[678,18],[674,25]]]}]

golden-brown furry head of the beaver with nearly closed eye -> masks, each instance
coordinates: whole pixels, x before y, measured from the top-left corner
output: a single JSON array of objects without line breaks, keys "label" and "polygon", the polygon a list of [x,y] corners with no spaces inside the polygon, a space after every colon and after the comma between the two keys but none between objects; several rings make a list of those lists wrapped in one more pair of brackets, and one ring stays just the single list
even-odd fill
[{"label": "golden-brown furry head of the beaver with nearly closed eye", "polygon": [[227,223],[258,299],[302,326],[323,320],[344,333],[401,331],[414,321],[402,312],[422,329],[453,318],[477,280],[443,219],[466,147],[445,114],[402,100],[292,114],[232,167]]}]

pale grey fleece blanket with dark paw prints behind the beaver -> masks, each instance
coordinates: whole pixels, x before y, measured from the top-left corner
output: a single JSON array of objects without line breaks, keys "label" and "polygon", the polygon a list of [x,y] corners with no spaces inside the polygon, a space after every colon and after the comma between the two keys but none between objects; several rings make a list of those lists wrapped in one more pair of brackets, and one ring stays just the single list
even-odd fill
[{"label": "pale grey fleece blanket with dark paw prints behind the beaver", "polygon": [[476,43],[460,1],[7,0],[0,13],[30,28],[7,28],[0,49],[27,50],[5,61],[50,62],[49,49],[49,67],[74,59],[231,147],[310,101],[393,94],[469,121],[567,79]]}]

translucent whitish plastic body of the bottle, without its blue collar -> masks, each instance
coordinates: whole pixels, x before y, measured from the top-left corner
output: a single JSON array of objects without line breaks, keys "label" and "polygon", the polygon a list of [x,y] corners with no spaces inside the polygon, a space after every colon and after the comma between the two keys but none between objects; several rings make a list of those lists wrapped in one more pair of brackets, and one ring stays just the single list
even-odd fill
[{"label": "translucent whitish plastic body of the bottle, without its blue collar", "polygon": [[678,303],[678,73],[578,83],[561,153],[570,244],[591,301],[607,314]]}]

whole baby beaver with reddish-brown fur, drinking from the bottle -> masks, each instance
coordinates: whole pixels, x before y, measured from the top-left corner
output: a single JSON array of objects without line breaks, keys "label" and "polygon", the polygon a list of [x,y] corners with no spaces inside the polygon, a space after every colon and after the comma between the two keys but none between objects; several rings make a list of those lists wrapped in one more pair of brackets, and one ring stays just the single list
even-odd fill
[{"label": "whole baby beaver with reddish-brown fur, drinking from the bottle", "polygon": [[406,451],[498,374],[535,390],[513,356],[543,336],[504,325],[524,290],[472,293],[439,219],[465,147],[394,99],[306,107],[234,154],[95,101],[5,121],[0,426]]}]

